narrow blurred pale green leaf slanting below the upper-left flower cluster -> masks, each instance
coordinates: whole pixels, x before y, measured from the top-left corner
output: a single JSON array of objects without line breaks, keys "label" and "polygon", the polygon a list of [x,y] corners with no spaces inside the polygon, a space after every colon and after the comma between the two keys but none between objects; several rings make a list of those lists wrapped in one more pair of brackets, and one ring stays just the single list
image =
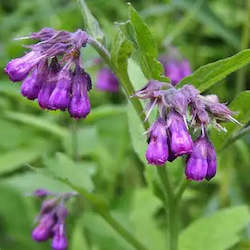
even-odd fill
[{"label": "narrow blurred pale green leaf slanting below the upper-left flower cluster", "polygon": [[67,135],[66,129],[43,118],[39,118],[33,115],[19,113],[19,112],[11,112],[11,111],[5,112],[4,116],[9,120],[31,125],[35,128],[49,132],[58,137],[64,137]]}]

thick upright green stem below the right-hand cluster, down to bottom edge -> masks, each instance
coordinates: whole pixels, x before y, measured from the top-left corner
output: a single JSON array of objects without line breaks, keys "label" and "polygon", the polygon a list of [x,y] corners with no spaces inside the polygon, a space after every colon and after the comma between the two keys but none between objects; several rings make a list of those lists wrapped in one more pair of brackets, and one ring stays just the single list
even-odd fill
[{"label": "thick upright green stem below the right-hand cluster, down to bottom edge", "polygon": [[[175,199],[173,188],[168,176],[166,167],[157,167],[157,172],[162,182],[164,196],[165,196],[165,209],[168,219],[168,243],[169,250],[178,249],[178,202]],[[167,204],[167,206],[166,206]]]}]

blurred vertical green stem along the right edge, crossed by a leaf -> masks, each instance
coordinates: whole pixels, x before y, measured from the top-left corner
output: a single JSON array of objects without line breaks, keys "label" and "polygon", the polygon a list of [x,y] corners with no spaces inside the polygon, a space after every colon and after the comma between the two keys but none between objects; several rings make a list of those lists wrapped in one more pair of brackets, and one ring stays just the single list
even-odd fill
[{"label": "blurred vertical green stem along the right edge, crossed by a leaf", "polygon": [[[246,20],[243,24],[242,36],[241,36],[241,50],[248,48],[249,43],[249,23],[250,23],[250,0],[246,2]],[[236,81],[236,93],[240,93],[245,89],[246,85],[246,73],[247,67],[242,68],[238,71],[237,81]]]}]

